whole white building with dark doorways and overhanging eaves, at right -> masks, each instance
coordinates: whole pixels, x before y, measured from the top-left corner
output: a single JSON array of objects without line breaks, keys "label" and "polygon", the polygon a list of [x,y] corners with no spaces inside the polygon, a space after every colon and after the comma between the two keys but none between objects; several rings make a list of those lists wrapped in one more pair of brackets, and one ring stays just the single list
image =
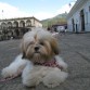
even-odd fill
[{"label": "whole white building with dark doorways and overhanging eaves, at right", "polygon": [[67,28],[73,33],[90,31],[90,0],[77,0],[67,15]]}]

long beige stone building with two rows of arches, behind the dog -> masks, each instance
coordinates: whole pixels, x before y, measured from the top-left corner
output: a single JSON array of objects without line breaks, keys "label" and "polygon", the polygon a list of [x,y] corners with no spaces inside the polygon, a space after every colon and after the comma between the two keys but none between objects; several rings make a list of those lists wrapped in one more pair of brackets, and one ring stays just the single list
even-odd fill
[{"label": "long beige stone building with two rows of arches, behind the dog", "polygon": [[33,27],[42,27],[40,21],[34,16],[0,20],[0,35],[4,35],[7,38],[22,37]]}]

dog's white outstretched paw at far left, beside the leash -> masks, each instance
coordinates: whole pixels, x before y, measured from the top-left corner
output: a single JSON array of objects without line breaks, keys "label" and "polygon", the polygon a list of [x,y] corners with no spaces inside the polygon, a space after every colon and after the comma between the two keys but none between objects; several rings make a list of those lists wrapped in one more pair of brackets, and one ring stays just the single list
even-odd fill
[{"label": "dog's white outstretched paw at far left, beside the leash", "polygon": [[13,77],[15,75],[14,68],[5,67],[1,73],[3,78]]}]

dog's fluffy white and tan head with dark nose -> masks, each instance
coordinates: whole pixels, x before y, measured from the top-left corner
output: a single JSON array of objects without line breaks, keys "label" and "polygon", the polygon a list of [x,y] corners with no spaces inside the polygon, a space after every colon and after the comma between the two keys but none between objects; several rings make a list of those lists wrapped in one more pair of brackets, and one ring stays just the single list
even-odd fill
[{"label": "dog's fluffy white and tan head with dark nose", "polygon": [[38,63],[49,61],[55,54],[59,54],[55,38],[43,29],[27,33],[23,38],[22,51],[23,57]]}]

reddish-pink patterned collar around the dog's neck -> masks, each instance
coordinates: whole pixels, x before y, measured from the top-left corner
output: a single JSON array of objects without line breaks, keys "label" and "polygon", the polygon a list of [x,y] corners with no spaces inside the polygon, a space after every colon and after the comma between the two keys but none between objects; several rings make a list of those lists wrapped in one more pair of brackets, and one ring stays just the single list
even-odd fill
[{"label": "reddish-pink patterned collar around the dog's neck", "polygon": [[62,66],[60,66],[57,63],[56,63],[56,60],[53,59],[52,61],[48,61],[48,62],[44,62],[44,63],[34,63],[34,65],[41,65],[41,66],[49,66],[49,67],[57,67],[60,69],[63,69]]}]

